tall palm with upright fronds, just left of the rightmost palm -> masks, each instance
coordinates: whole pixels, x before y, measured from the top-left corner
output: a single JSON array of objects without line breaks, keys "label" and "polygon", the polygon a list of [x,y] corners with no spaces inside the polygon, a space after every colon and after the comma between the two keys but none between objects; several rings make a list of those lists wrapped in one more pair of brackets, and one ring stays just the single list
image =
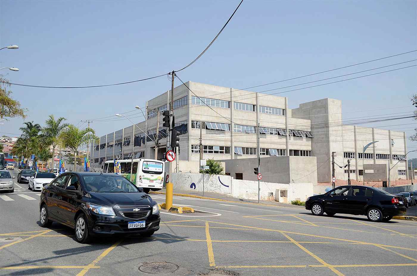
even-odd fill
[{"label": "tall palm with upright fronds, just left of the rightmost palm", "polygon": [[52,145],[52,159],[50,168],[53,167],[53,158],[55,156],[55,147],[59,143],[59,137],[63,130],[68,126],[68,123],[63,123],[66,119],[64,117],[60,117],[55,120],[54,115],[49,115],[49,119],[45,121],[46,126],[41,129],[40,139],[42,141],[43,146],[51,146]]}]

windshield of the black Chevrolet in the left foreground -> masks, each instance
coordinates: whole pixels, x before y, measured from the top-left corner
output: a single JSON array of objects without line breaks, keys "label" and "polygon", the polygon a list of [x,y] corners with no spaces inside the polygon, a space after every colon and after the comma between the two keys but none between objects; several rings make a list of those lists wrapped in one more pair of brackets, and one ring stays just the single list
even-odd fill
[{"label": "windshield of the black Chevrolet in the left foreground", "polygon": [[138,193],[139,190],[123,176],[83,176],[87,191],[98,193]]}]

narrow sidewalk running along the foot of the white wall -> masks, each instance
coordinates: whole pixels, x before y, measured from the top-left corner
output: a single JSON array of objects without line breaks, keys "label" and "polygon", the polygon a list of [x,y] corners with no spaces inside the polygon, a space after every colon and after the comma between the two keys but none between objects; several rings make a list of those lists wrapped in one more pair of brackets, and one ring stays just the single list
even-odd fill
[{"label": "narrow sidewalk running along the foot of the white wall", "polygon": [[[157,192],[151,191],[149,193],[151,193],[151,194],[152,193],[165,194],[166,190],[165,190],[165,188],[163,188],[160,191],[157,191]],[[203,196],[203,192],[199,192],[199,191],[174,190],[173,195],[174,196],[191,196],[191,197],[196,197],[196,198],[207,198],[207,199],[211,199],[211,200],[227,201],[229,203],[236,202],[236,203],[258,204],[257,200],[234,198],[232,196],[228,196],[228,195],[225,195],[225,194],[211,193],[211,192],[204,192],[204,196]],[[280,202],[276,202],[276,201],[259,201],[259,204],[268,205],[268,206],[276,206],[276,207],[295,207],[295,208],[305,209],[304,206],[291,205],[289,203],[280,203]]]}]

